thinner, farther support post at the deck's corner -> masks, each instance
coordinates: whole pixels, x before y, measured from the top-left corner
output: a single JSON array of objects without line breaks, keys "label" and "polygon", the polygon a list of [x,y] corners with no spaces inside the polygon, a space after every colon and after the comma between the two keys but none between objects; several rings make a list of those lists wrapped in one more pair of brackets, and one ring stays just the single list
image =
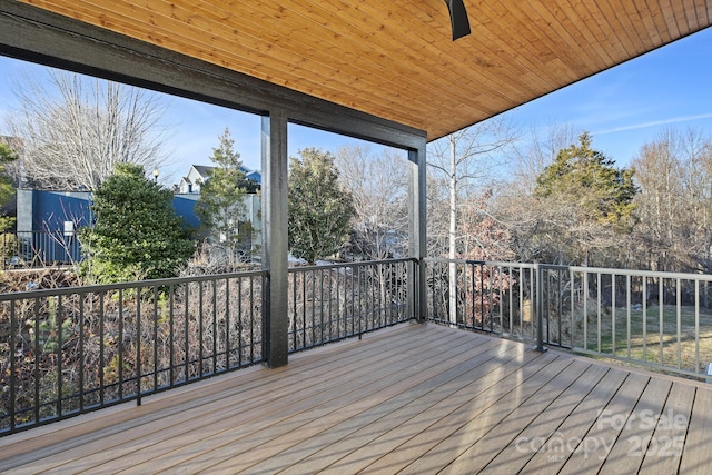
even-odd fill
[{"label": "thinner, farther support post at the deck's corner", "polygon": [[427,280],[425,257],[427,256],[426,227],[426,142],[423,137],[415,150],[408,150],[408,236],[409,254],[415,259],[415,281],[408,288],[408,303],[415,319],[424,323],[427,317]]}]

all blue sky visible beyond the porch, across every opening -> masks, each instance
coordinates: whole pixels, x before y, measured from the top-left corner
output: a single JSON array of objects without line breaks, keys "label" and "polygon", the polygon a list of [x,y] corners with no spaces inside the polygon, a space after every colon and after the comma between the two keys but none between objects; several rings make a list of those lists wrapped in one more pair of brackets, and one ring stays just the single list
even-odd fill
[{"label": "all blue sky visible beyond the porch, across every opening", "polygon": [[[14,99],[11,83],[29,65],[0,57],[0,133]],[[249,168],[259,168],[256,116],[170,98],[169,164],[161,178],[177,182],[190,164],[209,165],[218,136],[229,127],[235,148]],[[664,128],[695,128],[712,135],[712,29],[693,34],[624,65],[507,112],[523,129],[565,123],[593,135],[593,146],[626,166],[640,147]],[[299,126],[289,128],[289,154],[305,147],[336,151],[359,140]]]}]

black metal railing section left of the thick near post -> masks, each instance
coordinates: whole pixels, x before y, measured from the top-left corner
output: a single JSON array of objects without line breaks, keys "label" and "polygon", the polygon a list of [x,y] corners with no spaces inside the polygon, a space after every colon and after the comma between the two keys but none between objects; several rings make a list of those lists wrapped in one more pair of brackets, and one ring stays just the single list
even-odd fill
[{"label": "black metal railing section left of the thick near post", "polygon": [[263,360],[264,271],[0,296],[0,434]]}]

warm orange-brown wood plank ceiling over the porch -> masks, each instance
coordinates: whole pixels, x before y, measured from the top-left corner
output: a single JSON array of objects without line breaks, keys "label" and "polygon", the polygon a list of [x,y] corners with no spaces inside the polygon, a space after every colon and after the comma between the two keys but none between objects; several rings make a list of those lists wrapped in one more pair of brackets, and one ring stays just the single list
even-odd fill
[{"label": "warm orange-brown wood plank ceiling over the porch", "polygon": [[23,0],[427,132],[487,119],[712,24],[712,0]]}]

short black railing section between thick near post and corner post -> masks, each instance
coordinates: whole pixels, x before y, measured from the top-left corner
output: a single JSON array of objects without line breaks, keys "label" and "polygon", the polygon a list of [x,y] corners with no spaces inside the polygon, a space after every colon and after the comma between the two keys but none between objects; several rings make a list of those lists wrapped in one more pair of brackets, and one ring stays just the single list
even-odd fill
[{"label": "short black railing section between thick near post and corner post", "polygon": [[415,261],[393,259],[289,269],[289,352],[413,318]]}]

